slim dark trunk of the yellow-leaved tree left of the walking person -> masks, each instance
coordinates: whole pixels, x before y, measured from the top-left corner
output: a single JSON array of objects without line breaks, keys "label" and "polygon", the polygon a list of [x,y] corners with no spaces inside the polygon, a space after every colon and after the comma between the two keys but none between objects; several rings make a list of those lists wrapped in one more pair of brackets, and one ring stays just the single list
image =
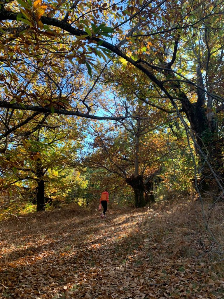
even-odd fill
[{"label": "slim dark trunk of the yellow-leaved tree left of the walking person", "polygon": [[37,211],[45,210],[45,181],[43,180],[44,170],[41,159],[36,161],[36,176],[37,176]]}]

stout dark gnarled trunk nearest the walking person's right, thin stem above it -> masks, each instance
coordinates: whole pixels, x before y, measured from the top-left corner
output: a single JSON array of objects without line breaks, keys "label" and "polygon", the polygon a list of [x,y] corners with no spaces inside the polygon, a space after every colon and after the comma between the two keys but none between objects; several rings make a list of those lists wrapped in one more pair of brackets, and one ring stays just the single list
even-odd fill
[{"label": "stout dark gnarled trunk nearest the walking person's right, thin stem above it", "polygon": [[135,196],[135,207],[145,207],[146,202],[144,198],[145,186],[143,184],[142,176],[131,176],[126,179],[126,182],[132,187]]}]

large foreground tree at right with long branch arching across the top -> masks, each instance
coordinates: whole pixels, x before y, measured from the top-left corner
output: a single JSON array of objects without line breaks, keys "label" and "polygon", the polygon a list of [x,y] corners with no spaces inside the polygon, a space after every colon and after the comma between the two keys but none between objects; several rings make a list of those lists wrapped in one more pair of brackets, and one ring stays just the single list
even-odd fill
[{"label": "large foreground tree at right with long branch arching across the top", "polygon": [[[105,60],[105,56],[113,59],[118,55],[127,71],[135,71],[135,67],[147,76],[148,85],[164,101],[170,101],[188,130],[182,113],[186,115],[191,126],[189,133],[201,157],[202,189],[208,190],[214,178],[220,178],[217,183],[223,190],[223,136],[218,116],[223,114],[223,40],[219,38],[223,36],[222,14],[223,2],[211,0],[139,0],[122,1],[121,5],[113,1],[75,1],[70,6],[67,1],[54,6],[42,5],[38,0],[32,6],[29,1],[8,4],[2,0],[0,20],[5,21],[2,47],[6,56],[3,61],[18,62],[21,58],[13,60],[13,52],[18,57],[42,55],[31,48],[45,48],[49,36],[52,43],[47,44],[47,52],[56,51],[55,56],[62,56],[64,50],[53,47],[56,43],[67,44],[65,58],[86,64],[90,75],[94,67],[91,53]],[[68,35],[63,36],[63,30]],[[18,43],[22,43],[19,49]],[[3,87],[7,88],[5,81]],[[154,105],[151,99],[142,100]],[[24,109],[16,103],[9,106],[7,101],[2,101],[1,107]]]}]

